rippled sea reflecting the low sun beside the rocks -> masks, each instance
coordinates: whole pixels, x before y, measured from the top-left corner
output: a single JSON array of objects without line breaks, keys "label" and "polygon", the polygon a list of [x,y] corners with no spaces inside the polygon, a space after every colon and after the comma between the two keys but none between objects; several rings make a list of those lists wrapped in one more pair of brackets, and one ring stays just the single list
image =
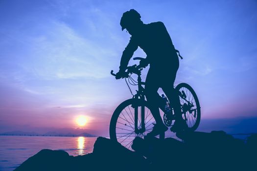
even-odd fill
[{"label": "rippled sea reflecting the low sun beside the rocks", "polygon": [[[245,135],[234,136],[246,139]],[[109,138],[109,137],[107,137]],[[0,171],[13,171],[42,149],[65,150],[70,155],[93,152],[97,137],[0,136]]]}]

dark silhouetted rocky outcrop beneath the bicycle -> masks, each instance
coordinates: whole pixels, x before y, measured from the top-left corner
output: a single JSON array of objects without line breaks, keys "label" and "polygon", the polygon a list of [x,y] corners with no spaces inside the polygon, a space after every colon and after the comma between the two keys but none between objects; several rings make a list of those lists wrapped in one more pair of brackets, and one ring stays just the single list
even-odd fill
[{"label": "dark silhouetted rocky outcrop beneath the bicycle", "polygon": [[137,137],[130,151],[98,137],[92,153],[70,156],[62,150],[41,150],[15,171],[209,171],[256,170],[257,134],[246,142],[224,131],[181,132],[174,138]]}]

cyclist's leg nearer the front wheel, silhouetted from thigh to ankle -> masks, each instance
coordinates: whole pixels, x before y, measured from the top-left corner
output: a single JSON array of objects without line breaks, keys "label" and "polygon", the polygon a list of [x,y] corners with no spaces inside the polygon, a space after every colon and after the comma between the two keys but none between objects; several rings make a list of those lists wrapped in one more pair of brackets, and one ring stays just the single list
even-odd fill
[{"label": "cyclist's leg nearer the front wheel, silhouetted from thigh to ankle", "polygon": [[[151,113],[156,121],[156,126],[165,131],[166,126],[163,123],[158,104],[160,99],[159,94],[157,93],[160,87],[159,84],[160,80],[156,74],[156,71],[150,67],[145,80],[145,96],[147,102],[149,103]],[[156,132],[153,131],[152,133],[155,134]]]}]

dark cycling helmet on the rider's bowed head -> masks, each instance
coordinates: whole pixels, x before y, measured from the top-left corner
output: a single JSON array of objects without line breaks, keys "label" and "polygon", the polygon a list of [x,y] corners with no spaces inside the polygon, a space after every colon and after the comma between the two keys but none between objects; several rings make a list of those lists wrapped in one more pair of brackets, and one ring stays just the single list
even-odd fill
[{"label": "dark cycling helmet on the rider's bowed head", "polygon": [[140,14],[135,9],[124,12],[120,19],[121,29],[124,30],[128,25],[140,21],[140,18]]}]

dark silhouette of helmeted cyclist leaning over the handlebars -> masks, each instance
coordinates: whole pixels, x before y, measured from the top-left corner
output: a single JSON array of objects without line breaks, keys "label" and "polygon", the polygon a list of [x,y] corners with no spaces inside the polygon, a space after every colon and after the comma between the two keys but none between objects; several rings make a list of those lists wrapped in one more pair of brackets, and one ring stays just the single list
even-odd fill
[{"label": "dark silhouette of helmeted cyclist leaning over the handlebars", "polygon": [[157,91],[160,87],[173,104],[176,113],[176,121],[171,127],[171,131],[184,130],[187,128],[187,124],[182,118],[179,95],[173,86],[179,68],[178,51],[175,49],[163,22],[144,24],[140,18],[140,14],[134,9],[123,13],[121,17],[122,30],[126,29],[131,38],[122,53],[116,79],[124,77],[129,60],[138,47],[143,49],[147,57],[140,61],[140,65],[146,67],[150,64],[145,80],[145,96],[156,120],[153,130],[147,135],[156,136],[168,129],[163,123],[157,104],[160,98]]}]

